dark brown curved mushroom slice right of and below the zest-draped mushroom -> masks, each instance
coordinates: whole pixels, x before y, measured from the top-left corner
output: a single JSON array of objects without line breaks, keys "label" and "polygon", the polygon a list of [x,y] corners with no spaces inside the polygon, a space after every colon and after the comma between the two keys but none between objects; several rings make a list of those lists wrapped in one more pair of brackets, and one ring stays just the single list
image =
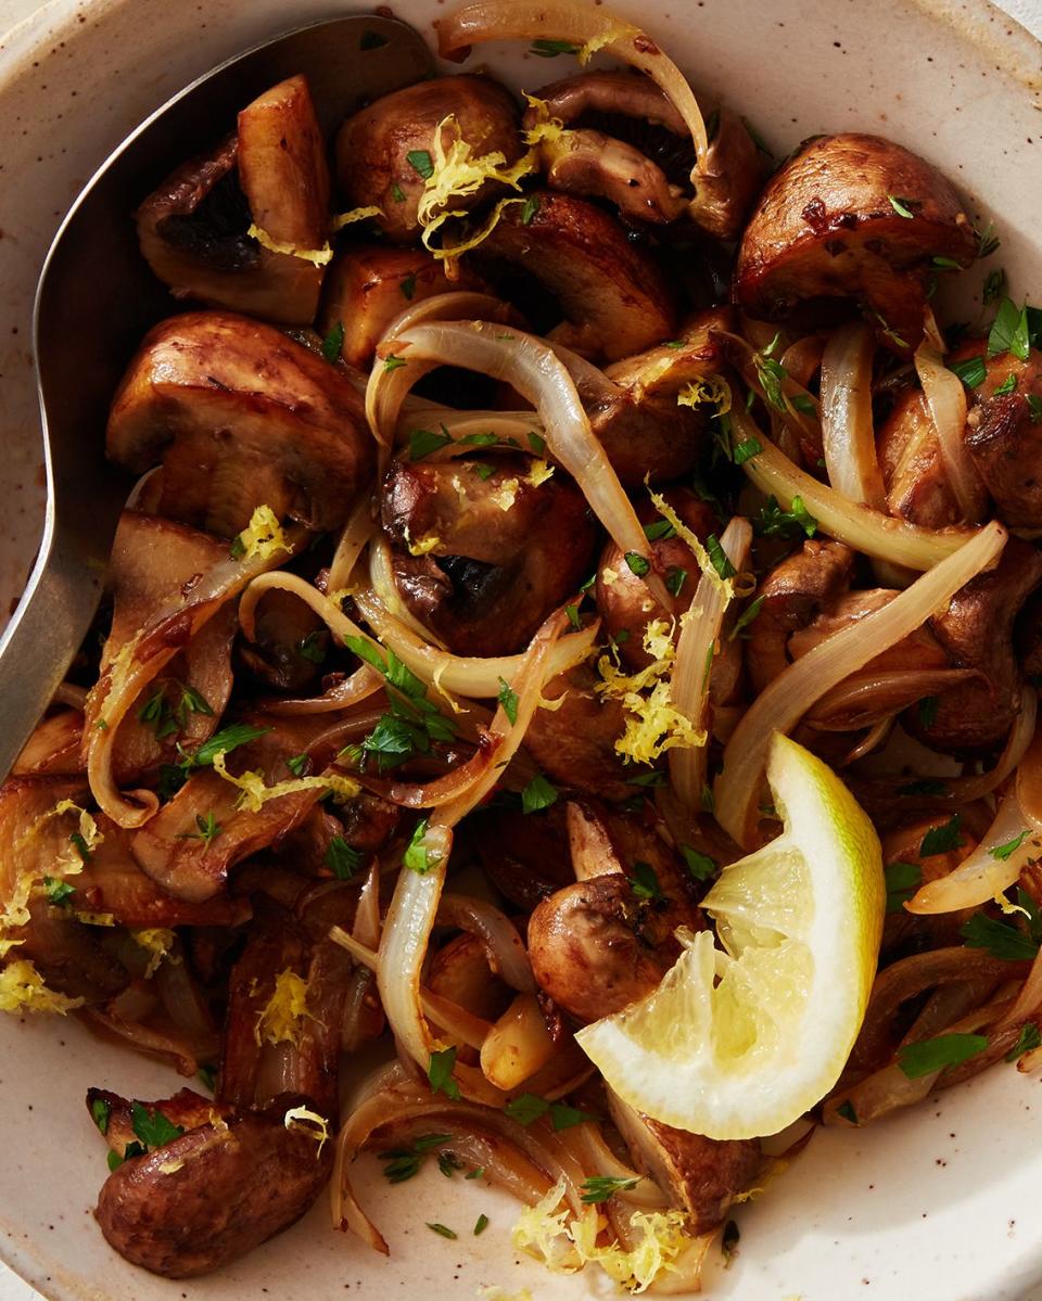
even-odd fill
[{"label": "dark brown curved mushroom slice right of and below the zest-draped mushroom", "polygon": [[480,265],[507,263],[552,294],[565,316],[550,337],[609,362],[673,338],[676,308],[650,254],[606,212],[540,190],[510,207],[476,250]]}]

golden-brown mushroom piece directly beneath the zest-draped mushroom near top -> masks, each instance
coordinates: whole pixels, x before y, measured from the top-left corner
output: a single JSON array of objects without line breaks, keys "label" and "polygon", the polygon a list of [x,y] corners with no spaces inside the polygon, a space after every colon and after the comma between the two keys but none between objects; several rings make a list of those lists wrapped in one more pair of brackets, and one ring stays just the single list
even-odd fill
[{"label": "golden-brown mushroom piece directly beneath the zest-draped mushroom near top", "polygon": [[327,336],[343,327],[341,356],[349,366],[367,369],[388,325],[410,303],[453,289],[484,288],[481,277],[462,263],[450,281],[442,264],[420,248],[363,245],[333,259],[319,320]]}]

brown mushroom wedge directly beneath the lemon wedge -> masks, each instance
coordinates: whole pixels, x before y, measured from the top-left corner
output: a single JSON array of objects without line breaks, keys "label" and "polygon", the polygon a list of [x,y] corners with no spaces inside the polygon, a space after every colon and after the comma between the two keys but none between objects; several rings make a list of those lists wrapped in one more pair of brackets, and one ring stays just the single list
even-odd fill
[{"label": "brown mushroom wedge directly beneath the lemon wedge", "polygon": [[758,1138],[721,1141],[652,1120],[609,1090],[608,1106],[634,1168],[691,1216],[695,1233],[710,1233],[764,1164]]}]

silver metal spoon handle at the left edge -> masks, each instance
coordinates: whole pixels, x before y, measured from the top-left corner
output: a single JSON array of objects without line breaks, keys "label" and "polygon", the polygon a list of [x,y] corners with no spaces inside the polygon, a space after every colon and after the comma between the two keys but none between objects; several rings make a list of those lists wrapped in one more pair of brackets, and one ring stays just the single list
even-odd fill
[{"label": "silver metal spoon handle at the left edge", "polygon": [[0,781],[61,684],[101,598],[104,570],[60,535],[44,537],[0,637]]}]

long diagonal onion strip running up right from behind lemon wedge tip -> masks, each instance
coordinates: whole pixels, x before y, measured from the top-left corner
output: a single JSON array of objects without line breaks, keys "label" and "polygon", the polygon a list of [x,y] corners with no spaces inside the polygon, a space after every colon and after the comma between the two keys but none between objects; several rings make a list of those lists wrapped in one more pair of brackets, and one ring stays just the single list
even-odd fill
[{"label": "long diagonal onion strip running up right from behind lemon wedge tip", "polygon": [[998,520],[986,524],[887,605],[808,650],[757,696],[727,743],[715,783],[717,821],[740,846],[752,848],[756,842],[756,811],[774,732],[788,734],[826,691],[944,609],[998,559],[1006,539]]}]

